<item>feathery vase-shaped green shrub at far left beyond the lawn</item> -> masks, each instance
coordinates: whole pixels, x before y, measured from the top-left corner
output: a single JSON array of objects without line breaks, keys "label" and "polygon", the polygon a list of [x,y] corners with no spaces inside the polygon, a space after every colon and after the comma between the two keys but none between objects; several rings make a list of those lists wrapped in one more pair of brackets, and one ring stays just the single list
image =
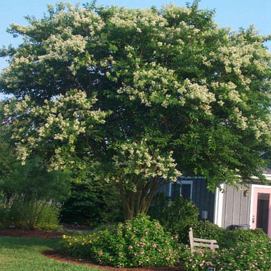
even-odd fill
[{"label": "feathery vase-shaped green shrub at far left beyond the lawn", "polygon": [[69,195],[69,176],[62,172],[48,172],[38,159],[26,165],[17,163],[15,170],[0,181],[6,201],[16,206],[28,229],[33,229],[35,221],[49,202],[63,202]]}]

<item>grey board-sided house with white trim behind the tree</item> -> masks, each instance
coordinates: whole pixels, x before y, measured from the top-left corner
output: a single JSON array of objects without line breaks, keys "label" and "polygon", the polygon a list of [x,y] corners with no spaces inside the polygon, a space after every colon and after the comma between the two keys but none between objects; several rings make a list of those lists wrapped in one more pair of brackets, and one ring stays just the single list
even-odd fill
[{"label": "grey board-sided house with white trim behind the tree", "polygon": [[206,189],[206,180],[201,177],[181,178],[170,183],[159,191],[174,200],[178,195],[192,199],[199,208],[199,218],[207,219],[220,227],[261,228],[271,238],[271,168],[265,172],[270,185],[263,185],[255,179],[247,186],[239,186],[240,190],[223,183],[224,190],[211,192]]}]

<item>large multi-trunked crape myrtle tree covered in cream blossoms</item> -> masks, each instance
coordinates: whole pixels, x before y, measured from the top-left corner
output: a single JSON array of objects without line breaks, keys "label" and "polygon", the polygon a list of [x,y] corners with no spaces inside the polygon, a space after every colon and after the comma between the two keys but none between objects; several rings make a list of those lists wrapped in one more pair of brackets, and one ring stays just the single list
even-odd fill
[{"label": "large multi-trunked crape myrtle tree covered in cream blossoms", "polygon": [[253,27],[219,28],[213,11],[48,6],[8,31],[1,50],[8,138],[23,163],[112,183],[124,218],[181,174],[214,190],[263,178],[270,147],[270,53]]}]

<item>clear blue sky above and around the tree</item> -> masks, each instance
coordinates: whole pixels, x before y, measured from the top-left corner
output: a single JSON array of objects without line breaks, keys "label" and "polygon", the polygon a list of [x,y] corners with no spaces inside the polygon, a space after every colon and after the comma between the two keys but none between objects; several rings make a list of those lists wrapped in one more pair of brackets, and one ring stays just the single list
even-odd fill
[{"label": "clear blue sky above and around the tree", "polygon": [[[86,1],[70,0],[73,5],[75,3],[85,3]],[[189,0],[97,0],[101,6],[127,6],[129,8],[147,8],[156,6],[160,8],[163,4],[174,3],[176,6],[186,6]],[[26,24],[24,16],[34,15],[42,17],[47,11],[47,3],[55,4],[57,0],[10,0],[1,1],[0,8],[0,47],[9,44],[17,45],[21,41],[19,38],[13,38],[12,35],[6,33],[10,23]],[[248,28],[250,24],[254,24],[255,28],[263,35],[271,33],[271,0],[202,0],[199,3],[202,9],[215,9],[215,22],[220,26],[231,26],[233,30],[238,28]],[[271,51],[271,42],[268,42],[269,51]],[[5,60],[0,59],[0,70],[6,67]],[[0,94],[0,99],[3,95]]]}]

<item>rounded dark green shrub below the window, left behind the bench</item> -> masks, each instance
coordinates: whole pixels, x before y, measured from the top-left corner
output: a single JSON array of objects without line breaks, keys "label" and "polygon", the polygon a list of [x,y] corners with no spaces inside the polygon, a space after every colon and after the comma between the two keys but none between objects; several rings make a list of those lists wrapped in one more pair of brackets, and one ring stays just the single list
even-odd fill
[{"label": "rounded dark green shrub below the window, left behind the bench", "polygon": [[165,230],[178,236],[181,243],[187,244],[189,228],[197,222],[198,215],[199,208],[180,196],[163,209],[160,222]]}]

